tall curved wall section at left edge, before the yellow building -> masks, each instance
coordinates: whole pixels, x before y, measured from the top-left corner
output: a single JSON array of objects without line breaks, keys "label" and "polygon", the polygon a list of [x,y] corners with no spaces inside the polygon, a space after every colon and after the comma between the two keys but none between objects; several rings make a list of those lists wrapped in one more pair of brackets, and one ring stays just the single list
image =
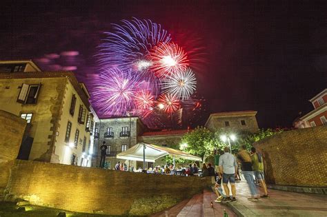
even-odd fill
[{"label": "tall curved wall section at left edge, before the yellow building", "polygon": [[10,167],[17,158],[26,121],[19,116],[0,110],[0,192],[8,183]]}]

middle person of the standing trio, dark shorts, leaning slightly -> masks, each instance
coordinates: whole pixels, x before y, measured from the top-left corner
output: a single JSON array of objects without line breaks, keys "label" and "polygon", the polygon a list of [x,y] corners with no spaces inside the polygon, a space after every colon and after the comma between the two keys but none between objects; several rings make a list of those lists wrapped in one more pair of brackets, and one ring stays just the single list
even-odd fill
[{"label": "middle person of the standing trio, dark shorts, leaning slightly", "polygon": [[246,151],[246,145],[241,146],[237,158],[241,162],[242,173],[246,179],[246,183],[248,183],[248,187],[250,188],[251,197],[248,198],[248,200],[257,201],[257,189],[255,187],[255,180],[253,179],[252,172],[252,159],[250,154]]}]

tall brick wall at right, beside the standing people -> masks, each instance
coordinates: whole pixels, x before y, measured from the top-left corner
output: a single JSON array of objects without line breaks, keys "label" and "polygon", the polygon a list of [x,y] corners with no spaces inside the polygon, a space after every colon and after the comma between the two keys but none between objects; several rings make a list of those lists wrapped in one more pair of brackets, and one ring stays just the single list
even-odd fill
[{"label": "tall brick wall at right, beside the standing people", "polygon": [[327,126],[282,132],[255,147],[264,156],[267,183],[327,186]]}]

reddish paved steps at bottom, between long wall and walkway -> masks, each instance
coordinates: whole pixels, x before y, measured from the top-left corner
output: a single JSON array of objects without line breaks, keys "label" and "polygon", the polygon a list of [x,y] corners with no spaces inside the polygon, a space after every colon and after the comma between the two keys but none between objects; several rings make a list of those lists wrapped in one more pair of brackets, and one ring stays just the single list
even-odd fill
[{"label": "reddish paved steps at bottom, between long wall and walkway", "polygon": [[[164,211],[152,215],[152,217],[213,217],[224,216],[224,210],[228,214],[228,217],[236,217],[226,205],[221,203],[215,203],[217,196],[209,189],[204,189],[203,193],[196,194],[190,199],[183,200],[174,207],[170,207]],[[213,207],[211,207],[211,201]]]}]

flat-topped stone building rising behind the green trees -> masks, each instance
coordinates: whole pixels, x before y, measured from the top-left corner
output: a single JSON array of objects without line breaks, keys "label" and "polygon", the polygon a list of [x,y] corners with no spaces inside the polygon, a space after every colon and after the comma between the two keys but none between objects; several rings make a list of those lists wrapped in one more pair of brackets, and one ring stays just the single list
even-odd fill
[{"label": "flat-topped stone building rising behind the green trees", "polygon": [[257,132],[259,130],[256,111],[218,112],[210,114],[204,125],[209,130],[232,129],[245,132]]}]

